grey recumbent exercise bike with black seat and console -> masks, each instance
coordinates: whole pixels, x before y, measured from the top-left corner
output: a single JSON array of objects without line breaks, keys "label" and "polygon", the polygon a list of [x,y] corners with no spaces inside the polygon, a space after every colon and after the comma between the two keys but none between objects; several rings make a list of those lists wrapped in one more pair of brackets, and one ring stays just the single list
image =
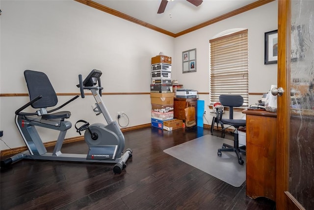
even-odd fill
[{"label": "grey recumbent exercise bike with black seat and console", "polygon": [[[83,125],[77,127],[77,132],[85,130],[84,138],[89,147],[88,154],[71,154],[62,153],[61,147],[68,129],[72,127],[68,119],[71,116],[69,111],[55,112],[65,105],[69,104],[79,96],[75,96],[61,106],[47,110],[47,107],[53,107],[57,104],[56,93],[47,77],[43,72],[25,70],[24,76],[29,92],[30,101],[15,112],[15,122],[23,137],[28,151],[18,153],[12,157],[1,161],[1,167],[25,159],[35,160],[60,160],[60,161],[77,161],[77,162],[101,162],[116,163],[113,167],[115,174],[120,174],[126,167],[126,162],[132,156],[132,150],[125,147],[125,139],[118,123],[113,121],[102,100],[102,90],[100,77],[102,72],[92,70],[89,75],[82,81],[82,75],[78,75],[81,97],[84,98],[84,90],[91,90],[96,100],[96,108],[93,109],[96,115],[103,114],[107,125],[95,123],[89,125],[85,120],[78,120],[77,123],[83,122]],[[97,86],[98,83],[98,86]],[[28,106],[39,109],[34,113],[22,112]],[[35,126],[45,127],[53,130],[59,130],[59,136],[56,141],[54,150],[47,152]]]}]

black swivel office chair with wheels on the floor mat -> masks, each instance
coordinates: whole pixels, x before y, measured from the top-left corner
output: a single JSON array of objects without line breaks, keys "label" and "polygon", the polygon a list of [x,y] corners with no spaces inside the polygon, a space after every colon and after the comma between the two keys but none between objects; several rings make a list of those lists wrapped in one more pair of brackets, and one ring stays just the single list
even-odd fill
[{"label": "black swivel office chair with wheels on the floor mat", "polygon": [[220,95],[219,101],[223,106],[229,107],[229,119],[221,119],[224,124],[229,124],[235,127],[235,139],[234,146],[223,143],[222,149],[218,149],[218,156],[221,156],[222,151],[235,151],[236,156],[238,158],[238,163],[243,164],[244,161],[240,155],[241,153],[245,153],[245,149],[242,147],[239,148],[239,134],[238,128],[242,126],[246,126],[246,120],[236,120],[234,119],[234,107],[240,107],[243,105],[243,97],[241,95]]}]

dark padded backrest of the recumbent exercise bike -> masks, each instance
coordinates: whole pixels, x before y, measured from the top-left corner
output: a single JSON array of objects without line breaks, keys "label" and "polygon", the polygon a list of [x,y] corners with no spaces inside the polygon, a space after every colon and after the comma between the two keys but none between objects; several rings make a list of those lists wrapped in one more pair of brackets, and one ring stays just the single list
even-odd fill
[{"label": "dark padded backrest of the recumbent exercise bike", "polygon": [[36,98],[38,95],[43,96],[41,99],[31,104],[33,108],[52,107],[58,103],[57,95],[45,73],[25,70],[24,77],[30,100]]}]

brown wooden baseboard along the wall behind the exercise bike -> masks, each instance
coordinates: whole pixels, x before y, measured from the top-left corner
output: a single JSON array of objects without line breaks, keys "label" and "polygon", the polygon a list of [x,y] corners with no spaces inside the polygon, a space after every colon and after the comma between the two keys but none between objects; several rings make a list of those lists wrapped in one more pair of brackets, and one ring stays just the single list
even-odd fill
[{"label": "brown wooden baseboard along the wall behind the exercise bike", "polygon": [[[121,128],[121,131],[127,132],[127,131],[136,130],[136,129],[140,129],[140,128],[144,128],[144,127],[150,127],[150,126],[151,126],[151,123],[141,124],[141,125],[131,126],[131,127],[127,127],[127,128]],[[78,141],[82,141],[82,140],[84,140],[84,136],[71,137],[71,138],[64,139],[63,144],[69,144],[69,143],[78,142]],[[56,141],[46,142],[46,143],[44,143],[44,146],[46,148],[47,147],[53,147],[53,146],[55,146],[55,143],[56,143]],[[15,155],[17,153],[23,152],[25,150],[27,150],[26,146],[7,149],[7,150],[1,150],[0,151],[0,157],[12,156],[12,155]]]}]

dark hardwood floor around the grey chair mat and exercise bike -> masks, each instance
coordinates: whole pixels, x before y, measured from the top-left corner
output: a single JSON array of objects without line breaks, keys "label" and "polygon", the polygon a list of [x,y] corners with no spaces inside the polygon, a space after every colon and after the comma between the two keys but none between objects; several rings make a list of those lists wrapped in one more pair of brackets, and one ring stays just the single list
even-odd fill
[{"label": "dark hardwood floor around the grey chair mat and exercise bike", "polygon": [[[121,174],[113,173],[114,164],[22,160],[1,168],[0,209],[274,210],[266,198],[246,197],[245,182],[234,187],[163,152],[207,134],[201,127],[125,132],[133,156]],[[62,152],[87,150],[81,141]]]}]

